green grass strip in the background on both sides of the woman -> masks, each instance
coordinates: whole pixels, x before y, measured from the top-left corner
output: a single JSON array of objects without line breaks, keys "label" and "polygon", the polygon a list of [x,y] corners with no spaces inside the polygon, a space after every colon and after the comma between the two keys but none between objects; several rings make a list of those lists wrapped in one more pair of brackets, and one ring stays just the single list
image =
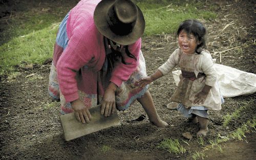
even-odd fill
[{"label": "green grass strip in the background on both sides of the woman", "polygon": [[[208,20],[216,17],[216,13],[204,9],[198,1],[135,2],[145,17],[144,36],[173,34],[180,22],[188,18]],[[9,25],[4,27],[0,41],[0,75],[14,72],[14,66],[20,65],[22,61],[41,64],[52,57],[59,22],[72,7],[61,4],[58,8],[32,8],[9,18]]]}]

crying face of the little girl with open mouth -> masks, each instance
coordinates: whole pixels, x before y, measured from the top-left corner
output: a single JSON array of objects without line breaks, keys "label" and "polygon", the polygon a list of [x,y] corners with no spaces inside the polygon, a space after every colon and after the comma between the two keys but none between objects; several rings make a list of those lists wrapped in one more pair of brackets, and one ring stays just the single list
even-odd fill
[{"label": "crying face of the little girl with open mouth", "polygon": [[193,34],[188,35],[184,30],[179,34],[178,43],[185,54],[194,54],[197,45],[200,44]]}]

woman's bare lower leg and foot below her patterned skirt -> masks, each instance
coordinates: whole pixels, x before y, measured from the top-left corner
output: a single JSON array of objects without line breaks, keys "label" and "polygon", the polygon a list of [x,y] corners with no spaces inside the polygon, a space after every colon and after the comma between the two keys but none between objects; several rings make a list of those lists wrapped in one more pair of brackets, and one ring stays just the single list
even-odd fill
[{"label": "woman's bare lower leg and foot below her patterned skirt", "polygon": [[141,98],[138,98],[137,100],[146,111],[147,116],[150,119],[150,122],[152,122],[157,127],[166,127],[168,125],[166,122],[161,120],[160,117],[158,116],[153,99],[151,97],[150,92],[148,92],[148,90]]}]

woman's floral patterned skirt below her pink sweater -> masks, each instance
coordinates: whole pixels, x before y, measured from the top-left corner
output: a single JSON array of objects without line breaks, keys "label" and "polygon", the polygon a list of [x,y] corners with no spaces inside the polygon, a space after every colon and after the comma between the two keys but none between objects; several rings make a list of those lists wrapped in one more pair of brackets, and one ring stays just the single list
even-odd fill
[{"label": "woman's floral patterned skirt below her pink sweater", "polygon": [[[148,88],[148,85],[144,88],[136,85],[136,81],[146,76],[145,61],[140,52],[140,65],[136,68],[136,71],[130,76],[129,80],[122,82],[120,87],[116,90],[116,107],[118,110],[126,110],[137,98],[143,96]],[[87,83],[87,82],[84,82]],[[106,81],[104,83],[109,83]],[[90,85],[90,84],[88,84]],[[97,88],[91,88],[97,90]],[[102,100],[103,94],[91,94],[86,93],[84,90],[78,90],[79,99],[81,99],[87,107],[96,106],[97,102]],[[70,102],[66,102],[64,96],[59,90],[56,67],[52,63],[51,72],[49,76],[49,94],[55,100],[60,100],[61,114],[73,112]]]}]

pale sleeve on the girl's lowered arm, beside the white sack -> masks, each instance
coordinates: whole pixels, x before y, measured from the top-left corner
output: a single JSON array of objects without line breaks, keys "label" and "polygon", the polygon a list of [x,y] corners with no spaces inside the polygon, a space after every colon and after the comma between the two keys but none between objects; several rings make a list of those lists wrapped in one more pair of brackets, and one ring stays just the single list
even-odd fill
[{"label": "pale sleeve on the girl's lowered arm, beside the white sack", "polygon": [[206,75],[205,84],[209,86],[214,86],[217,80],[217,73],[214,68],[214,61],[210,53],[206,53],[203,55],[201,70]]}]

